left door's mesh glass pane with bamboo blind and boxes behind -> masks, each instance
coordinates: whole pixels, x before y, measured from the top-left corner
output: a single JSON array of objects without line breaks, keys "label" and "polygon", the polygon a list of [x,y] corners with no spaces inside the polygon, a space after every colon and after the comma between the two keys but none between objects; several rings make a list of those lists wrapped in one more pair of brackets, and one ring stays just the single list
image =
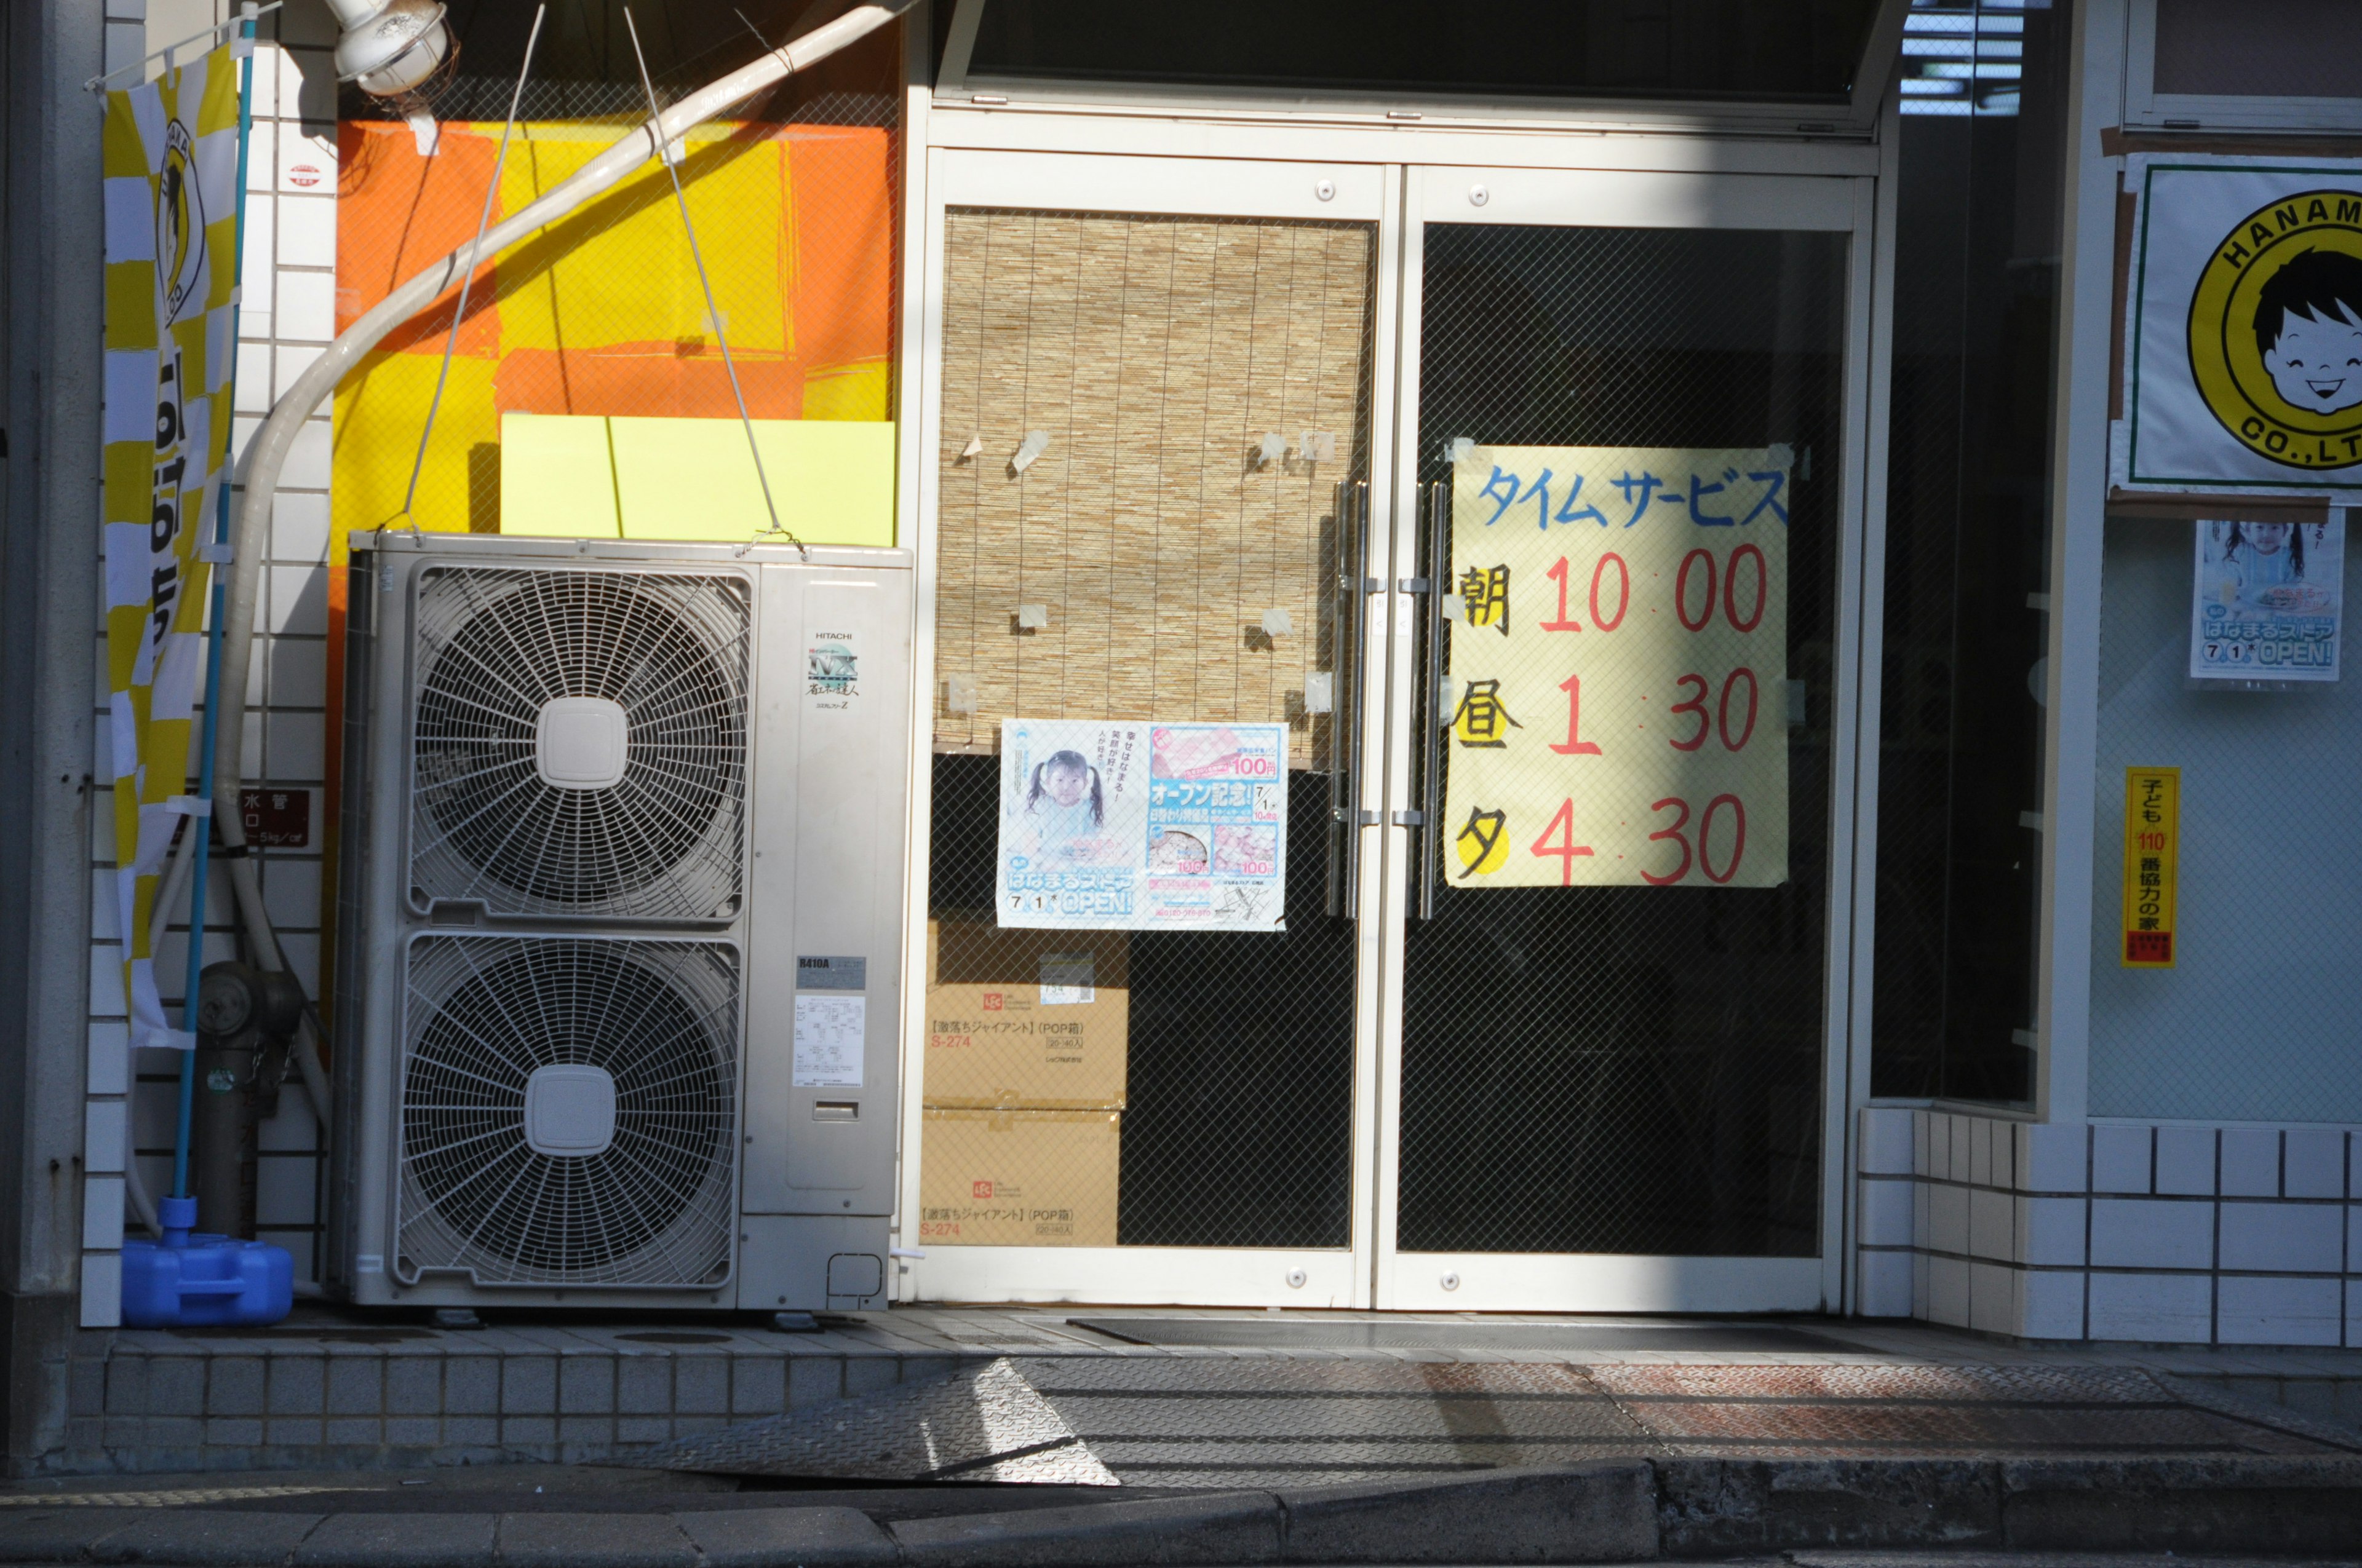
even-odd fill
[{"label": "left door's mesh glass pane with bamboo blind and boxes behind", "polygon": [[[928,1244],[1351,1237],[1323,850],[1372,269],[1370,224],[947,215]],[[1004,720],[1280,725],[1285,928],[1004,928]]]}]

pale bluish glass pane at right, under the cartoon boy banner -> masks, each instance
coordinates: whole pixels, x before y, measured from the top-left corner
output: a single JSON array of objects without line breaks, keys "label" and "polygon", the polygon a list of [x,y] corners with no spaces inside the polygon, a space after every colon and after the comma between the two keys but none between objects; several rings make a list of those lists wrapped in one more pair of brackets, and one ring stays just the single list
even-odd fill
[{"label": "pale bluish glass pane at right, under the cartoon boy banner", "polygon": [[[2350,512],[2348,512],[2350,517]],[[2253,527],[2253,524],[2251,524]],[[2336,524],[2289,527],[2294,583]],[[2192,682],[2197,538],[2180,517],[2112,517],[2100,583],[2090,864],[2090,1115],[2175,1122],[2362,1122],[2362,827],[2334,803],[2362,765],[2355,649],[2336,680]],[[2220,590],[2216,567],[2204,586]],[[2331,545],[2336,548],[2336,545]],[[2303,553],[2303,555],[2298,555]],[[2296,560],[2305,560],[2303,567]],[[2338,550],[2343,557],[2343,550]],[[2327,581],[2324,581],[2327,579]],[[2171,968],[2126,966],[2126,770],[2180,770]],[[2135,874],[2140,867],[2133,867]],[[2079,867],[2060,867],[2076,876]],[[2138,926],[2138,912],[2135,921]]]}]

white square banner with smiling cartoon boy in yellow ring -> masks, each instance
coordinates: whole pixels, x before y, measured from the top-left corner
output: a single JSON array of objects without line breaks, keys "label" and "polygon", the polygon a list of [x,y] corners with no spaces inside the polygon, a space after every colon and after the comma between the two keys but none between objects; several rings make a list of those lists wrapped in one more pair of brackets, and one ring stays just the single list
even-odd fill
[{"label": "white square banner with smiling cartoon boy in yellow ring", "polygon": [[2135,156],[2123,425],[2135,491],[2362,491],[2362,168]]}]

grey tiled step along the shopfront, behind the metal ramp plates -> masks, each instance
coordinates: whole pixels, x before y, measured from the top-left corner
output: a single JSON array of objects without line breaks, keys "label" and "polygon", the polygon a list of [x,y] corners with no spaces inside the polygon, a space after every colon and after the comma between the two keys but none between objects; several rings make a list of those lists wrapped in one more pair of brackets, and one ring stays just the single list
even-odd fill
[{"label": "grey tiled step along the shopfront, behind the metal ramp plates", "polygon": [[[68,1440],[52,1471],[222,1471],[626,1457],[690,1433],[931,1379],[992,1355],[1618,1367],[2147,1370],[2301,1415],[2362,1424],[2362,1351],[2020,1348],[1925,1325],[1814,1320],[1842,1348],[1479,1351],[1143,1346],[1075,1327],[1079,1308],[905,1308],[820,1334],[676,1322],[501,1322],[428,1329],[307,1308],[260,1332],[90,1332],[68,1365]],[[1101,1313],[1103,1315],[1103,1313]],[[1160,1313],[1266,1322],[1259,1313]],[[1356,1318],[1285,1313],[1283,1322]],[[1403,1322],[1363,1315],[1361,1322]],[[1422,1315],[1422,1322],[1601,1320]],[[1618,1320],[1646,1322],[1646,1320]]]}]

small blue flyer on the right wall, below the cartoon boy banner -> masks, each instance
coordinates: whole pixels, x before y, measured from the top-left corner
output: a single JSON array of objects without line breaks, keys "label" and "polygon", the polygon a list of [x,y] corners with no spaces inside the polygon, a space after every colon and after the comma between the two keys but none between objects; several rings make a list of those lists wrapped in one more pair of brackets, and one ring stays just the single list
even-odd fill
[{"label": "small blue flyer on the right wall, below the cartoon boy banner", "polygon": [[2190,678],[2294,682],[2338,678],[2345,512],[2334,522],[2197,524]]}]

